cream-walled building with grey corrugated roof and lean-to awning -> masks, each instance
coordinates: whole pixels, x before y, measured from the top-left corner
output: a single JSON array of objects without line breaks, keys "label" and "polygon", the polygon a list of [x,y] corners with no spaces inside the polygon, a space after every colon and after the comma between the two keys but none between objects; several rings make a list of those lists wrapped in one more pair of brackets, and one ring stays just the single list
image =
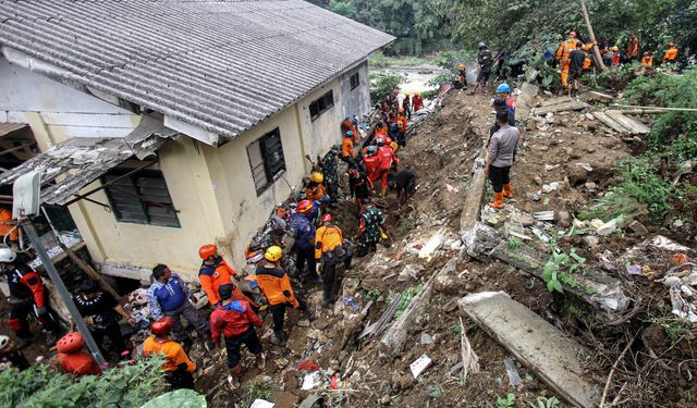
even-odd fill
[{"label": "cream-walled building with grey corrugated roof and lean-to awning", "polygon": [[0,125],[41,153],[0,183],[40,171],[105,274],[194,276],[211,242],[241,268],[393,40],[299,0],[3,2]]}]

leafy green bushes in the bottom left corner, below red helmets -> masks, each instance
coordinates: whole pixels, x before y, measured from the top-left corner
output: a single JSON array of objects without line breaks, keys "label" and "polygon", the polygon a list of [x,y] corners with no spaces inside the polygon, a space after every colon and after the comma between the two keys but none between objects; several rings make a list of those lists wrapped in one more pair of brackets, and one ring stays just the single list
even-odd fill
[{"label": "leafy green bushes in the bottom left corner, below red helmets", "polygon": [[0,406],[20,408],[139,407],[166,390],[159,357],[74,379],[49,364],[0,371]]}]

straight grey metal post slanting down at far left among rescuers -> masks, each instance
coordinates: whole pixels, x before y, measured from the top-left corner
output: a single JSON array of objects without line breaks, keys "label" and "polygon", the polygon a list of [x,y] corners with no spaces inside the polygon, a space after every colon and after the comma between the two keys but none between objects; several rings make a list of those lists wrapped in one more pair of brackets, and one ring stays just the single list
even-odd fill
[{"label": "straight grey metal post slanting down at far left among rescuers", "polygon": [[87,344],[87,348],[91,353],[91,356],[95,358],[99,367],[103,367],[106,364],[106,361],[103,356],[101,355],[101,351],[99,351],[99,346],[97,346],[97,342],[95,342],[95,338],[91,336],[89,329],[87,329],[85,320],[80,314],[77,307],[73,302],[73,298],[70,292],[68,292],[68,287],[65,287],[65,283],[63,283],[63,280],[56,269],[56,265],[53,265],[53,263],[51,262],[51,257],[49,257],[48,252],[46,252],[46,248],[44,248],[39,236],[36,234],[36,230],[34,230],[34,225],[32,224],[32,222],[25,222],[24,224],[22,224],[22,227],[29,238],[29,242],[32,242],[32,246],[41,260],[44,268],[46,268],[46,272],[51,279],[51,282],[53,282],[53,285],[58,290],[58,295],[68,307],[68,311],[77,325],[77,330],[80,331],[80,333],[82,333],[83,337],[85,337],[85,343]]}]

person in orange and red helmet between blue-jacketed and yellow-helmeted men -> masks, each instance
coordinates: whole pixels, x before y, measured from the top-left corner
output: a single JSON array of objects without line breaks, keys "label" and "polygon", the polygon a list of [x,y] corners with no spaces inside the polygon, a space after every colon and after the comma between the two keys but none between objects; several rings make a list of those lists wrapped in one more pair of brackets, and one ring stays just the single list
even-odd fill
[{"label": "person in orange and red helmet between blue-jacketed and yellow-helmeted men", "polygon": [[[218,290],[222,285],[233,285],[232,298],[234,300],[245,300],[252,306],[258,307],[257,304],[247,298],[237,285],[232,283],[232,276],[235,275],[235,270],[232,269],[222,256],[218,255],[218,247],[213,244],[207,244],[198,249],[198,255],[203,262],[200,270],[198,271],[198,282],[200,286],[208,295],[208,301],[210,305],[216,306],[220,302],[220,296]],[[170,327],[171,329],[171,327]],[[169,332],[168,332],[169,334]]]}]

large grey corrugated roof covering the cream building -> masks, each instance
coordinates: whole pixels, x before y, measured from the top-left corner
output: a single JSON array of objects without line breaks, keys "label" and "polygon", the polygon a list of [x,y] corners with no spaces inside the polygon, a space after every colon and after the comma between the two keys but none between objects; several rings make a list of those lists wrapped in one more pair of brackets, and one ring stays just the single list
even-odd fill
[{"label": "large grey corrugated roof covering the cream building", "polygon": [[392,40],[302,0],[0,0],[0,44],[227,138]]}]

